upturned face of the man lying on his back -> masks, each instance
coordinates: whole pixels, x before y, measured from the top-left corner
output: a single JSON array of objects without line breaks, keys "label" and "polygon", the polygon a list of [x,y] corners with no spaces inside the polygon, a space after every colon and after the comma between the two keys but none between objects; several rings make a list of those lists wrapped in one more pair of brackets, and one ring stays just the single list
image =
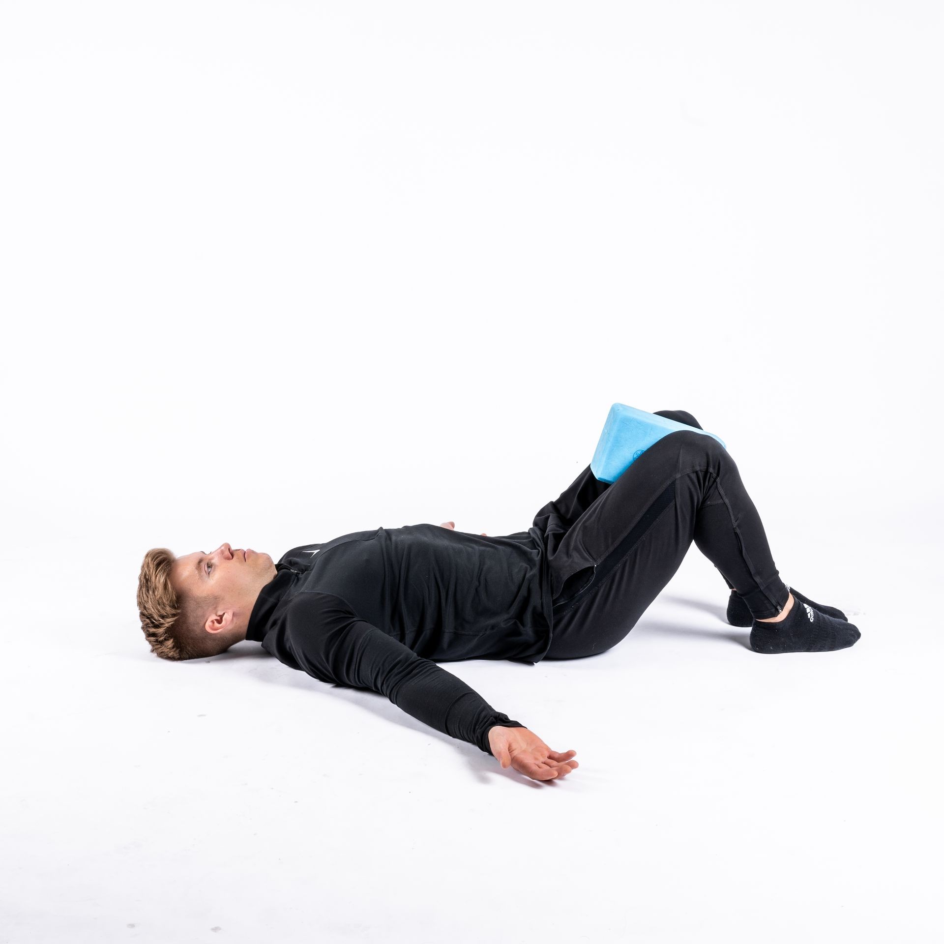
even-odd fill
[{"label": "upturned face of the man lying on his back", "polygon": [[275,576],[276,565],[268,554],[228,544],[221,544],[211,554],[195,550],[177,557],[171,566],[171,583],[178,596],[207,601],[207,631],[240,639],[245,638],[259,591]]}]

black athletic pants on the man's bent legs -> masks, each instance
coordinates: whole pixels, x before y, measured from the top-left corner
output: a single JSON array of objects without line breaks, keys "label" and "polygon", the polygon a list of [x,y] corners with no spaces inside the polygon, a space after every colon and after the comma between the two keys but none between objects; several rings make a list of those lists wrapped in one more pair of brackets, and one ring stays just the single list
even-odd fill
[{"label": "black athletic pants on the man's bent legs", "polygon": [[[658,415],[701,429],[682,410]],[[755,617],[776,616],[789,596],[734,460],[700,432],[670,432],[612,484],[588,465],[534,526],[554,600],[547,659],[595,655],[624,639],[692,541]]]}]

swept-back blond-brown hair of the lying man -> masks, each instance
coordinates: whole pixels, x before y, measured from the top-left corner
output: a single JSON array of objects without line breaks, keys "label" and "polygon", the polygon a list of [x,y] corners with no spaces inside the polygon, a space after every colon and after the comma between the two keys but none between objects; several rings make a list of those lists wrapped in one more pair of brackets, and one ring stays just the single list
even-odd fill
[{"label": "swept-back blond-brown hair of the lying man", "polygon": [[209,599],[177,595],[171,583],[171,565],[176,560],[167,548],[151,548],[138,576],[138,613],[144,638],[155,655],[175,662],[216,655],[220,640],[203,632]]}]

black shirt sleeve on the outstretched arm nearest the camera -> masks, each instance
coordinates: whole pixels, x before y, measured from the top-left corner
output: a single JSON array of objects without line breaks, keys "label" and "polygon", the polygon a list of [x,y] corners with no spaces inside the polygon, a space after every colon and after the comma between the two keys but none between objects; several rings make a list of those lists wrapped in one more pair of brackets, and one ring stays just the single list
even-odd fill
[{"label": "black shirt sleeve on the outstretched arm nearest the camera", "polygon": [[333,594],[298,594],[287,613],[295,661],[322,682],[379,692],[398,708],[486,754],[489,729],[523,728],[497,712],[458,676],[353,613]]}]

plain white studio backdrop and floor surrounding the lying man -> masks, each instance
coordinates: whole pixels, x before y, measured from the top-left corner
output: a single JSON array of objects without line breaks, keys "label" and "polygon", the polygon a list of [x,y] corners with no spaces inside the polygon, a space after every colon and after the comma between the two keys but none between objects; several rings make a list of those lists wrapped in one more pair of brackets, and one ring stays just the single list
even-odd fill
[{"label": "plain white studio backdrop and floor surrounding the lying man", "polygon": [[[929,940],[935,3],[0,3],[0,941]],[[852,649],[692,548],[598,657],[450,664],[537,784],[246,642],[147,548],[525,530],[613,402],[727,443]]]}]

